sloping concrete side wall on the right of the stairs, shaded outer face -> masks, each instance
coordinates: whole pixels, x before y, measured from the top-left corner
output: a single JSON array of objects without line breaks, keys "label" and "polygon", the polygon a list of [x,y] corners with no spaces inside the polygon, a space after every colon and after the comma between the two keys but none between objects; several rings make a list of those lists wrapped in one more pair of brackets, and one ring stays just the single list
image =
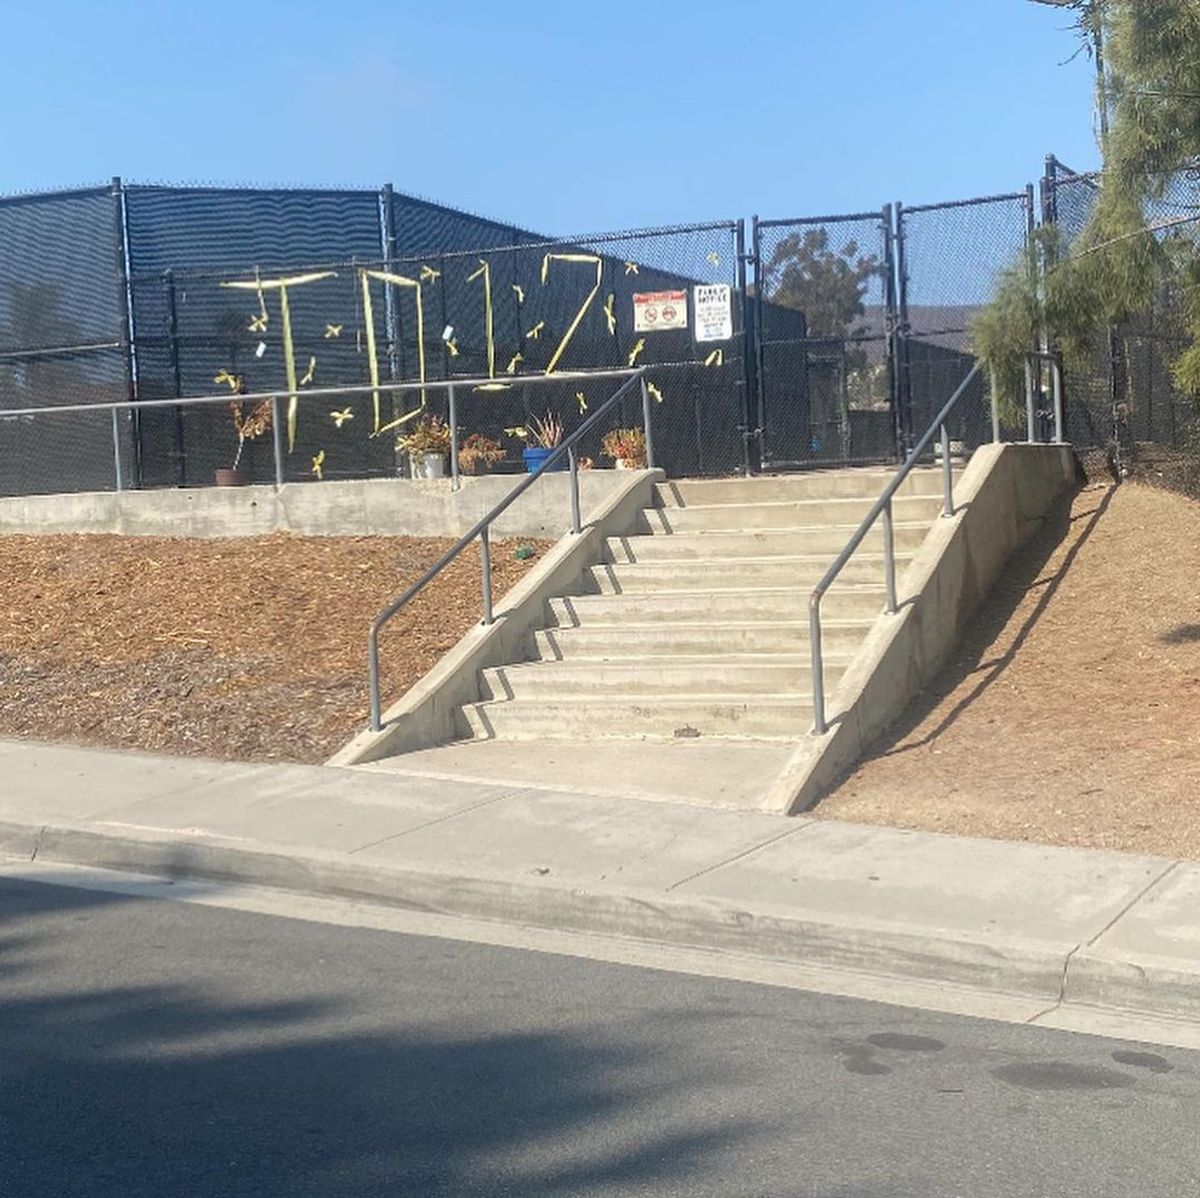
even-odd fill
[{"label": "sloping concrete side wall on the right of the stairs, shaded outer face", "polygon": [[[863,757],[941,670],[1009,556],[1076,484],[1067,445],[984,445],[900,580],[900,610],[882,615],[829,699],[830,727],[809,736],[767,807],[808,810]],[[965,766],[966,768],[966,766]]]}]

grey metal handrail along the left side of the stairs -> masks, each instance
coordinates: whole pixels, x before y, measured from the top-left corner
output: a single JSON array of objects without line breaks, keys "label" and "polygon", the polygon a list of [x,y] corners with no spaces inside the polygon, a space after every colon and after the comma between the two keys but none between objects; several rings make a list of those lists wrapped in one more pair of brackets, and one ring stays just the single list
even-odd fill
[{"label": "grey metal handrail along the left side of the stairs", "polygon": [[[379,732],[383,730],[383,712],[382,701],[379,695],[379,633],[383,627],[400,612],[416,594],[419,594],[430,582],[433,581],[458,555],[473,541],[479,538],[479,550],[482,562],[482,623],[492,624],[494,623],[494,616],[492,613],[492,555],[491,555],[491,537],[490,529],[496,520],[506,511],[517,499],[521,498],[526,491],[529,490],[547,471],[550,471],[556,462],[562,461],[563,455],[568,456],[570,463],[570,475],[571,475],[571,532],[578,534],[583,531],[582,519],[580,514],[580,463],[578,455],[575,453],[575,447],[578,444],[580,439],[588,433],[595,424],[617,403],[619,403],[629,390],[636,384],[641,384],[642,389],[642,429],[646,433],[646,465],[648,468],[654,466],[654,437],[653,430],[650,427],[650,393],[646,383],[646,367],[641,366],[637,370],[626,371],[608,371],[605,372],[610,377],[614,375],[628,375],[622,385],[613,391],[612,395],[605,400],[560,445],[558,445],[552,454],[534,471],[520,486],[514,487],[491,511],[487,513],[472,529],[466,533],[458,541],[448,550],[437,562],[433,563],[418,580],[414,582],[398,599],[392,600],[388,604],[374,619],[371,621],[371,628],[367,633],[367,684],[370,688],[371,696],[371,731]],[[563,375],[552,375],[551,378],[564,378]],[[589,378],[598,377],[595,373],[588,375]]]}]

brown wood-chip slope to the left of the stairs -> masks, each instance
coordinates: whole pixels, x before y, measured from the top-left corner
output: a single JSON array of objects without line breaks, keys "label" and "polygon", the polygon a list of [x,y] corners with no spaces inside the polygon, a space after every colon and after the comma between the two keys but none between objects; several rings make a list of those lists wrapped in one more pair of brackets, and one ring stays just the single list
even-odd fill
[{"label": "brown wood-chip slope to the left of the stairs", "polygon": [[[0,736],[322,761],[365,726],[367,624],[451,544],[0,537]],[[497,597],[523,545],[493,543]],[[380,637],[385,703],[479,615],[469,549]]]}]

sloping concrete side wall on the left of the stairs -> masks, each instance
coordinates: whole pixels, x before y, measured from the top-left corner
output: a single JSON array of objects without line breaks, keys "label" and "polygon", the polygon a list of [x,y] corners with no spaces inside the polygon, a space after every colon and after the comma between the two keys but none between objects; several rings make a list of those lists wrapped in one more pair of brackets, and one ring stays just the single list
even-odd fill
[{"label": "sloping concrete side wall on the left of the stairs", "polygon": [[[545,627],[548,601],[583,591],[584,571],[604,559],[605,539],[637,527],[642,509],[654,502],[655,484],[665,477],[662,471],[614,472],[617,486],[590,515],[583,532],[564,537],[542,557],[497,606],[496,622],[478,624],[467,633],[400,702],[384,712],[383,731],[360,733],[328,763],[355,766],[452,741],[458,708],[479,701],[479,672],[521,660],[530,634]],[[386,652],[385,631],[380,655]]]}]

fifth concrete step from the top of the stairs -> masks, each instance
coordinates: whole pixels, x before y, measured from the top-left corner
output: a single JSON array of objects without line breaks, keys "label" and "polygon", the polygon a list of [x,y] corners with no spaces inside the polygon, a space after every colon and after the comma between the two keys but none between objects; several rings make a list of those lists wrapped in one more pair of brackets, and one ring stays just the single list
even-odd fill
[{"label": "fifth concrete step from the top of the stairs", "polygon": [[[559,628],[589,622],[602,624],[698,623],[720,621],[769,623],[808,617],[809,591],[805,587],[781,587],[760,591],[656,591],[623,595],[571,595],[551,599],[551,619]],[[868,619],[884,606],[882,581],[834,583],[822,603],[822,615],[829,619]]]}]

